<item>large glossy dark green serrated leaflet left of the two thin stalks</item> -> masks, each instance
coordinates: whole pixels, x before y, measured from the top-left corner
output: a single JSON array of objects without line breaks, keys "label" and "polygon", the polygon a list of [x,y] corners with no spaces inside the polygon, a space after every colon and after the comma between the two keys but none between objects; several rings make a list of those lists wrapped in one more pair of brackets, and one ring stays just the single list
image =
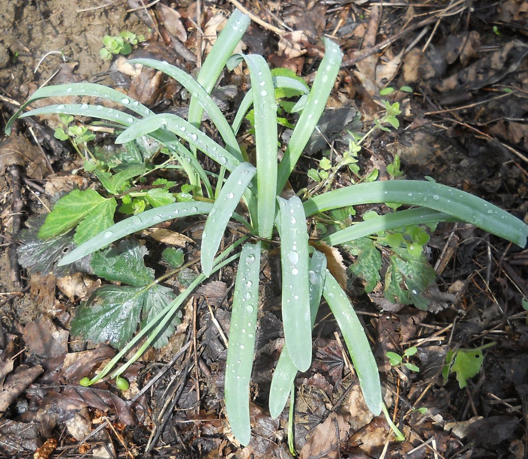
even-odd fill
[{"label": "large glossy dark green serrated leaflet left of the two thin stalks", "polygon": [[109,342],[122,348],[137,330],[146,295],[145,287],[105,285],[78,306],[71,321],[71,334],[92,343]]}]

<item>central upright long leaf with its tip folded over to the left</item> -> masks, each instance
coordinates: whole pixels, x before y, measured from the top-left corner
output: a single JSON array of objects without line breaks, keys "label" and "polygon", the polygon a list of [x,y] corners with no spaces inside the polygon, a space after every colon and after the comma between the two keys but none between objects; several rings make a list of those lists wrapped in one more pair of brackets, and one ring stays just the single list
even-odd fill
[{"label": "central upright long leaf with its tip folded over to the left", "polygon": [[258,54],[233,55],[228,67],[244,59],[248,65],[255,113],[255,146],[257,149],[258,232],[271,238],[275,218],[277,184],[277,105],[275,89],[266,60]]}]

